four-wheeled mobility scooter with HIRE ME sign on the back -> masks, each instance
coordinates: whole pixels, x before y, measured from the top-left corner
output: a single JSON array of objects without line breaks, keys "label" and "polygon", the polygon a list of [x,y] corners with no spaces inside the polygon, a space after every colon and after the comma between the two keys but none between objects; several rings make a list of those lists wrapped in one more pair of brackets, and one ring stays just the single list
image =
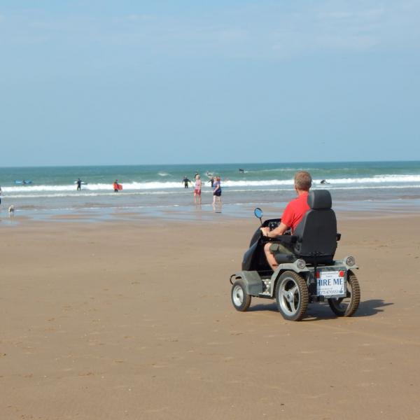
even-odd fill
[{"label": "four-wheeled mobility scooter with HIRE ME sign on the back", "polygon": [[[360,286],[354,270],[353,256],[334,260],[337,241],[337,219],[331,209],[328,190],[314,190],[308,195],[310,209],[297,225],[293,235],[286,232],[275,238],[255,231],[244,254],[242,270],[230,276],[232,304],[246,311],[251,297],[275,299],[288,321],[304,318],[311,302],[325,302],[337,316],[352,316],[360,303]],[[262,227],[276,228],[281,219],[262,223],[262,210],[254,211]],[[269,267],[264,253],[267,241],[282,244],[290,253],[274,254],[279,266]]]}]

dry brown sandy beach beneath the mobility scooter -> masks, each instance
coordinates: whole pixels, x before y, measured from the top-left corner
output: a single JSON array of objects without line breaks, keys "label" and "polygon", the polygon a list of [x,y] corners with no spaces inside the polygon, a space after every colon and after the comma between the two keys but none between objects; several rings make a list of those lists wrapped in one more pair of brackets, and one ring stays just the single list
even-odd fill
[{"label": "dry brown sandy beach beneath the mobility scooter", "polygon": [[419,419],[419,223],[339,218],[359,310],[293,323],[230,302],[253,218],[3,220],[0,419]]}]

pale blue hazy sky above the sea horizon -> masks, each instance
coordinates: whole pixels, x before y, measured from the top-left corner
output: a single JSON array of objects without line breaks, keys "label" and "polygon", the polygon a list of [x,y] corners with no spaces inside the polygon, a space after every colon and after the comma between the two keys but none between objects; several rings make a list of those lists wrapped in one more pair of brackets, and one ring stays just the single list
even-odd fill
[{"label": "pale blue hazy sky above the sea horizon", "polygon": [[0,2],[0,166],[420,160],[420,0]]}]

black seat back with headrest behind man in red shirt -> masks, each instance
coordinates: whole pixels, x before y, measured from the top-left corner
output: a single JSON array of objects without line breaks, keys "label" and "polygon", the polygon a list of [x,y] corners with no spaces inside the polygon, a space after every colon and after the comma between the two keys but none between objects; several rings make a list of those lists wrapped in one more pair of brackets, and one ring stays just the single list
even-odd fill
[{"label": "black seat back with headrest behind man in red shirt", "polygon": [[293,232],[297,237],[293,252],[309,263],[331,262],[337,248],[337,219],[331,209],[330,192],[311,191],[308,204],[310,210]]}]

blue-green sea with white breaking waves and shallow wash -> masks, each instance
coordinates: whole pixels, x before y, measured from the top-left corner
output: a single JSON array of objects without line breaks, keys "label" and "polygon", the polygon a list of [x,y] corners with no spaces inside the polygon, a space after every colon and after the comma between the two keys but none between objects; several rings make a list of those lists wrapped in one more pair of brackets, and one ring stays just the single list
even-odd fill
[{"label": "blue-green sea with white breaking waves and shallow wash", "polygon": [[[410,162],[297,162],[206,165],[127,165],[81,167],[0,168],[0,216],[35,219],[73,216],[86,220],[125,216],[202,217],[214,213],[211,175],[221,176],[222,207],[217,213],[244,216],[253,207],[272,212],[295,197],[293,176],[311,173],[313,188],[330,190],[333,206],[341,211],[418,212],[420,161]],[[200,213],[193,204],[193,188],[183,178],[195,174],[203,181]],[[76,190],[76,180],[84,183]],[[114,193],[113,182],[123,185]]]}]

